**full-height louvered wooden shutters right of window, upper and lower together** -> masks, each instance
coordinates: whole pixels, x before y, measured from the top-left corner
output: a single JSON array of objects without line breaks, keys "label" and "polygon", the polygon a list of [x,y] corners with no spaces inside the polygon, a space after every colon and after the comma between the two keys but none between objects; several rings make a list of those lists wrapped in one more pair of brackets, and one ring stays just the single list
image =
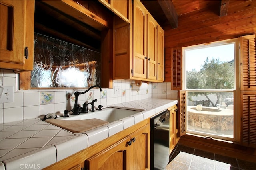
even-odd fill
[{"label": "full-height louvered wooden shutters right of window, upper and lower together", "polygon": [[240,37],[241,144],[256,148],[256,41]]}]

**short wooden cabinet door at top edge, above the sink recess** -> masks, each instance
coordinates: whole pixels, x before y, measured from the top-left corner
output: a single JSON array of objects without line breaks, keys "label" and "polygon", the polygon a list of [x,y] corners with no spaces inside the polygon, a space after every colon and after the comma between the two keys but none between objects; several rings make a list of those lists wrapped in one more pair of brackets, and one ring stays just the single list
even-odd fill
[{"label": "short wooden cabinet door at top edge, above the sink recess", "polygon": [[127,23],[130,23],[130,15],[132,10],[131,0],[99,0],[102,4],[112,10],[117,16]]}]

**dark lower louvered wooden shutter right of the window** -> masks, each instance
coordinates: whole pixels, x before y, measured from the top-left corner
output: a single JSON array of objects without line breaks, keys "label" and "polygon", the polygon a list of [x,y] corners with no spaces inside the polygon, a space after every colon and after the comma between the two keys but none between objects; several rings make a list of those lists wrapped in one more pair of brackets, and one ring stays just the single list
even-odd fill
[{"label": "dark lower louvered wooden shutter right of the window", "polygon": [[241,92],[241,144],[256,147],[256,92]]}]

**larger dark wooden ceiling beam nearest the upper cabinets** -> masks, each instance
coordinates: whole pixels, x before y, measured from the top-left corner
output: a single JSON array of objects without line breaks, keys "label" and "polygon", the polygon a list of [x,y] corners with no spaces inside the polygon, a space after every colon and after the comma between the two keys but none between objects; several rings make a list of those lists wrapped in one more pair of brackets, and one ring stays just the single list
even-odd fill
[{"label": "larger dark wooden ceiling beam nearest the upper cabinets", "polygon": [[172,4],[171,0],[158,0],[158,4],[161,6],[166,18],[168,19],[172,28],[178,27],[178,14]]}]

